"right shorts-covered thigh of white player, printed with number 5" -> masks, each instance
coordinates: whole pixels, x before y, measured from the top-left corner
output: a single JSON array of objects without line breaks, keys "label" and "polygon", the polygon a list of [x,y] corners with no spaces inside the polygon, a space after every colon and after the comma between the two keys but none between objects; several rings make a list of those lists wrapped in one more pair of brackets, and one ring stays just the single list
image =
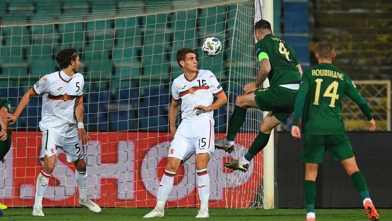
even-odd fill
[{"label": "right shorts-covered thigh of white player, printed with number 5", "polygon": [[77,133],[75,137],[64,138],[62,149],[67,156],[67,161],[70,163],[84,158],[82,142],[79,140]]}]

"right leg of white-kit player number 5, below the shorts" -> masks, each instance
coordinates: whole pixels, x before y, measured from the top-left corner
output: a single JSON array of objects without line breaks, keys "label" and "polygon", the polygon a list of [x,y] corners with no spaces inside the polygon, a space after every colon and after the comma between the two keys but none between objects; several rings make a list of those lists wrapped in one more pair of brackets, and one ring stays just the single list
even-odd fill
[{"label": "right leg of white-kit player number 5, below the shorts", "polygon": [[87,172],[86,172],[86,162],[84,159],[77,160],[73,163],[75,165],[75,180],[77,183],[77,188],[79,191],[79,204],[89,208],[90,211],[94,213],[99,213],[101,208],[91,199],[87,198]]}]

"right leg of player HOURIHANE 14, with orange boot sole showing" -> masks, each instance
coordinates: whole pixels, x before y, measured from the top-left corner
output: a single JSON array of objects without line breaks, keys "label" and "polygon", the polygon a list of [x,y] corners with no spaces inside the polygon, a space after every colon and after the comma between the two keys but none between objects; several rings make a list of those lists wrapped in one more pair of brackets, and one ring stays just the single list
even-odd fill
[{"label": "right leg of player HOURIHANE 14, with orange boot sole showing", "polygon": [[342,161],[342,165],[346,170],[348,176],[351,177],[352,182],[354,184],[355,189],[362,197],[362,202],[364,204],[366,213],[371,221],[377,221],[380,219],[380,216],[377,213],[376,208],[373,205],[373,202],[370,199],[370,194],[368,190],[368,185],[366,184],[365,177],[359,171],[357,163],[355,161],[355,157],[348,158]]}]

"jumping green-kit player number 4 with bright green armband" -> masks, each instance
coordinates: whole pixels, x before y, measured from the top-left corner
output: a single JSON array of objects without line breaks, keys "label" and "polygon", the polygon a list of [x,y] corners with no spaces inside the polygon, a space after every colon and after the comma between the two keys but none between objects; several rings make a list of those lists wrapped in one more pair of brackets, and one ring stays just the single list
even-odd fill
[{"label": "jumping green-kit player number 4 with bright green armband", "polygon": [[[293,48],[272,34],[268,21],[258,21],[254,26],[254,35],[258,40],[254,47],[260,62],[258,76],[254,82],[244,86],[245,94],[237,97],[226,138],[215,141],[217,149],[233,152],[234,139],[244,123],[247,108],[270,111],[263,119],[260,132],[245,156],[225,163],[226,167],[242,171],[248,170],[253,157],[267,145],[272,129],[285,121],[294,111],[302,74]],[[270,80],[270,87],[259,89],[267,77]]]}]

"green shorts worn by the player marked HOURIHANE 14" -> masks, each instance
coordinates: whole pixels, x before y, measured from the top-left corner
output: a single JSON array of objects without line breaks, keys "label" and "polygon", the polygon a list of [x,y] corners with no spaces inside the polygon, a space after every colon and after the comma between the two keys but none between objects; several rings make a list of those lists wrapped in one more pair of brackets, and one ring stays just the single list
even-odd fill
[{"label": "green shorts worn by the player marked HOURIHANE 14", "polygon": [[328,150],[336,161],[343,161],[354,156],[354,150],[345,133],[328,136],[306,135],[301,160],[304,163],[321,164],[325,150]]}]

